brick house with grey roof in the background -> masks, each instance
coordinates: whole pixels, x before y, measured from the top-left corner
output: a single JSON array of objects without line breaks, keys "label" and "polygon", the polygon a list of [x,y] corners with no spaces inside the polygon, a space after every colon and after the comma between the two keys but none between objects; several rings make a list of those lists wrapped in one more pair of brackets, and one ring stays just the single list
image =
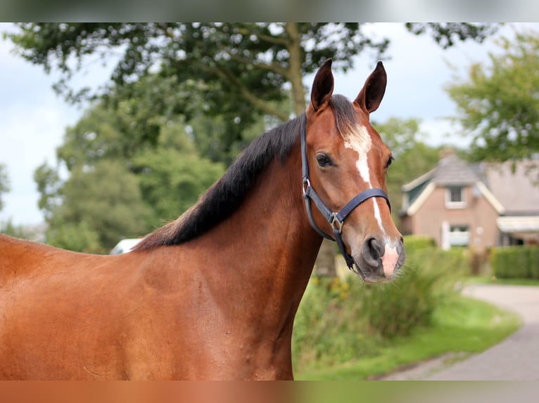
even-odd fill
[{"label": "brick house with grey roof in the background", "polygon": [[400,230],[443,249],[538,244],[539,183],[536,171],[527,174],[537,163],[467,164],[445,151],[436,168],[402,186]]}]

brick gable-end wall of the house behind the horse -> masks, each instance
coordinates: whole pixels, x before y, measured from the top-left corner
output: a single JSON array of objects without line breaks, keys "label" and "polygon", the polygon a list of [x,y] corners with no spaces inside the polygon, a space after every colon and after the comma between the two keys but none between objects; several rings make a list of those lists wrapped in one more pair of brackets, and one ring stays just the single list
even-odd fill
[{"label": "brick gable-end wall of the house behind the horse", "polygon": [[499,239],[495,209],[482,195],[474,197],[471,186],[464,189],[464,199],[464,209],[447,209],[445,187],[436,187],[414,216],[402,220],[402,232],[433,237],[441,246],[442,223],[446,220],[450,225],[469,226],[470,247],[495,246]]}]

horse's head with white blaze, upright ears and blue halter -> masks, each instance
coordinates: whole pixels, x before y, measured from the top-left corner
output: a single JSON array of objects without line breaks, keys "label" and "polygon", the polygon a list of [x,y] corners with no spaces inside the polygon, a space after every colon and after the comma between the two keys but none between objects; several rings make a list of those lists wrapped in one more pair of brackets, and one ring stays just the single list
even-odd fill
[{"label": "horse's head with white blaze, upright ears and blue halter", "polygon": [[306,111],[307,211],[312,209],[317,231],[341,238],[349,266],[353,261],[364,281],[388,281],[404,263],[405,251],[385,198],[391,150],[369,122],[386,90],[386,71],[379,62],[354,102],[332,96],[333,88],[327,60],[315,76]]}]

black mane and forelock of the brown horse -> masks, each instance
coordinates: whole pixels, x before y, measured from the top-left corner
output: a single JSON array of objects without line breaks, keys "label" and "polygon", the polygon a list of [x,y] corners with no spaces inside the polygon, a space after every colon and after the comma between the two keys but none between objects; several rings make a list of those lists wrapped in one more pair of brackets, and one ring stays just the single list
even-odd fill
[{"label": "black mane and forelock of the brown horse", "polygon": [[[336,111],[338,128],[342,124],[343,130],[348,129],[350,122],[354,121],[350,101],[342,95],[334,95],[331,104]],[[177,220],[149,234],[134,250],[182,244],[222,223],[239,208],[270,162],[276,157],[281,161],[288,157],[304,125],[305,113],[253,140],[229,166],[222,178],[217,180],[191,209]]]}]

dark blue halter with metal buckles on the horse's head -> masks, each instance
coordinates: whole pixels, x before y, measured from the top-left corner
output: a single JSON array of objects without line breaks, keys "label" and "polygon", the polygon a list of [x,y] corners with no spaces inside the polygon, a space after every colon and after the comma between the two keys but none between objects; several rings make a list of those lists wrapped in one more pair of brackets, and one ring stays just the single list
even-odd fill
[{"label": "dark blue halter with metal buckles on the horse's head", "polygon": [[[317,192],[312,188],[310,180],[309,180],[309,164],[307,162],[307,146],[306,146],[306,133],[305,133],[305,126],[307,126],[307,119],[305,119],[305,123],[303,124],[303,127],[301,128],[301,171],[303,175],[303,198],[305,199],[305,209],[307,210],[307,217],[309,218],[310,224],[312,228],[321,236],[326,239],[330,239],[331,241],[337,242],[338,249],[341,251],[341,254],[344,257],[344,260],[346,262],[346,265],[350,270],[353,272],[359,273],[358,270],[354,269],[354,258],[348,254],[344,247],[343,239],[341,237],[341,232],[343,230],[344,220],[346,217],[348,217],[348,214],[350,214],[357,206],[362,204],[365,200],[370,199],[371,197],[383,197],[386,199],[386,202],[389,206],[389,211],[391,211],[391,204],[389,203],[389,198],[386,192],[384,192],[382,189],[379,188],[372,188],[367,189],[361,192],[360,194],[357,194],[353,199],[350,200],[345,206],[341,209],[341,211],[338,211],[338,213],[335,213],[334,211],[331,211],[324,202],[322,202],[322,199],[318,196]],[[322,213],[322,216],[326,219],[326,221],[331,225],[331,228],[333,228],[333,234],[334,237],[331,237],[331,235],[326,234],[324,231],[320,230],[318,225],[315,223],[314,218],[312,218],[312,209],[310,201],[315,203],[315,206],[317,207],[318,211]]]}]

